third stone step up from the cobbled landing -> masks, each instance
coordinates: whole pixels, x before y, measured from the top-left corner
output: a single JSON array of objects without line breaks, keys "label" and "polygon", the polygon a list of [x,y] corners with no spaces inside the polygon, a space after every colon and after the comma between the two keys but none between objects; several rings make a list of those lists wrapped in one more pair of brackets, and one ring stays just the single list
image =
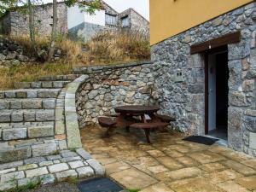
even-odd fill
[{"label": "third stone step up from the cobbled landing", "polygon": [[34,122],[34,121],[54,121],[54,109],[20,109],[20,110],[0,110],[0,122]]}]

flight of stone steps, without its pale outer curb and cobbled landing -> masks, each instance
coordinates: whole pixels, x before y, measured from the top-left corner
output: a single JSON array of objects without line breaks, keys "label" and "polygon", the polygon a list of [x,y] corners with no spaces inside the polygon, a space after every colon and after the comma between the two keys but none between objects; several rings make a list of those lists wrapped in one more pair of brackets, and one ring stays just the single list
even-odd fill
[{"label": "flight of stone steps, without its pale outer curb and cobbled landing", "polygon": [[79,75],[17,82],[0,91],[0,163],[56,154],[67,148],[65,86]]}]

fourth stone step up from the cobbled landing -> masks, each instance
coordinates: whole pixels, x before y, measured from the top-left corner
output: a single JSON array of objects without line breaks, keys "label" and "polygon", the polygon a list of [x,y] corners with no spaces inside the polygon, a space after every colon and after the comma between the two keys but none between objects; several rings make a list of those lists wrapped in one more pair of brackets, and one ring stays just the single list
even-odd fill
[{"label": "fourth stone step up from the cobbled landing", "polygon": [[29,98],[29,99],[0,99],[1,109],[54,109],[55,98]]}]

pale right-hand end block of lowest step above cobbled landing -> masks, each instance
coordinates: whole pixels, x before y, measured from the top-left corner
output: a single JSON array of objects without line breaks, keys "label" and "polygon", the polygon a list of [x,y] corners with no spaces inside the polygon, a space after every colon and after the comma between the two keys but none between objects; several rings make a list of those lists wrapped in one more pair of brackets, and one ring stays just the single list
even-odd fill
[{"label": "pale right-hand end block of lowest step above cobbled landing", "polygon": [[32,155],[34,157],[55,154],[57,152],[56,143],[44,143],[32,146]]}]

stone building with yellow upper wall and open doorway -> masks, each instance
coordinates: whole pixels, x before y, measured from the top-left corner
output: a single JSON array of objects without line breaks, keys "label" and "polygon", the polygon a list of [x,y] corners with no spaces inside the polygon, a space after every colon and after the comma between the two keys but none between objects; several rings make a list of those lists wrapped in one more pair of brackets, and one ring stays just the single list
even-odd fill
[{"label": "stone building with yellow upper wall and open doorway", "polygon": [[193,135],[256,156],[256,3],[150,0],[160,108]]}]

